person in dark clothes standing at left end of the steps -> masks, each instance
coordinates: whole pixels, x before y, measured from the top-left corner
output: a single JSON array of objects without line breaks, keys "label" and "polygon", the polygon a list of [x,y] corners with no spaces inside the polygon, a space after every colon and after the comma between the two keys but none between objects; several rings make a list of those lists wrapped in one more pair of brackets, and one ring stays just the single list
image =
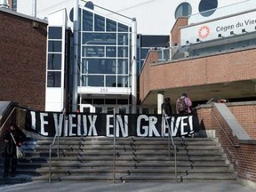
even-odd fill
[{"label": "person in dark clothes standing at left end of the steps", "polygon": [[12,164],[12,177],[15,177],[17,167],[17,149],[25,140],[26,135],[20,130],[17,124],[11,124],[4,135],[4,177],[9,174]]}]

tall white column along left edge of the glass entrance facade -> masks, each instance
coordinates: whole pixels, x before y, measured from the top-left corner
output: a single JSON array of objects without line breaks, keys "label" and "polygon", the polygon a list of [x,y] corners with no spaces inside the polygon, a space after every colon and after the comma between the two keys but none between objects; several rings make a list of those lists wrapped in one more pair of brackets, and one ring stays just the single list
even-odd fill
[{"label": "tall white column along left edge of the glass entrance facade", "polygon": [[77,76],[78,76],[78,0],[74,0],[74,64],[73,64],[73,95],[72,95],[72,111],[77,109]]}]

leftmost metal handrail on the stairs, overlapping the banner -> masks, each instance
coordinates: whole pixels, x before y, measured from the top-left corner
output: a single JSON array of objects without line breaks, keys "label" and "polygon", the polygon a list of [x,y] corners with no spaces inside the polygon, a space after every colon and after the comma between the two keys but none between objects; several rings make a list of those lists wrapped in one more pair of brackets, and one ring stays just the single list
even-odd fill
[{"label": "leftmost metal handrail on the stairs, overlapping the banner", "polygon": [[[60,122],[63,122],[65,113],[66,113],[66,110],[65,110],[65,108],[63,108],[62,114],[60,115]],[[58,138],[57,156],[59,158],[60,157],[60,130],[59,130],[59,127],[57,129],[57,132],[55,132],[55,136],[54,136],[54,138],[52,140],[52,144],[50,145],[50,148],[49,148],[49,183],[52,183],[52,147],[55,144],[56,138]]]}]

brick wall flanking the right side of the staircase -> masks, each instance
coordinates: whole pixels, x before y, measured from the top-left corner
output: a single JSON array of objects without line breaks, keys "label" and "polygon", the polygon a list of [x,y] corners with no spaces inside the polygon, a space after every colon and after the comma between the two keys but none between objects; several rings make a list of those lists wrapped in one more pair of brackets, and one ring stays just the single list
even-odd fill
[{"label": "brick wall flanking the right side of the staircase", "polygon": [[[236,174],[239,179],[252,180],[256,181],[256,141],[255,141],[255,112],[252,115],[253,111],[256,110],[256,104],[248,104],[244,102],[238,105],[229,105],[228,108],[233,112],[234,116],[238,122],[244,127],[244,130],[252,138],[251,141],[239,141],[232,134],[228,125],[225,124],[225,121],[221,119],[220,114],[214,108],[198,108],[197,114],[199,121],[204,124],[203,129],[206,130],[215,130],[216,137],[218,138],[221,147],[223,148],[225,154],[228,157],[228,161],[233,165]],[[250,110],[250,111],[249,111]],[[217,116],[220,124],[223,125],[225,131],[228,133],[228,137],[236,145],[239,144],[239,147],[235,147],[228,140],[228,137],[220,128],[220,125],[212,116],[212,112]],[[252,112],[252,113],[251,113]],[[254,139],[254,140],[253,140]]]}]

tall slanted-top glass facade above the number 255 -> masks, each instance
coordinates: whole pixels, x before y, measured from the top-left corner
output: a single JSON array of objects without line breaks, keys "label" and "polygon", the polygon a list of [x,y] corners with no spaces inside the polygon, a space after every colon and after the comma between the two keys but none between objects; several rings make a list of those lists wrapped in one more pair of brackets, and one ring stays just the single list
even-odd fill
[{"label": "tall slanted-top glass facade above the number 255", "polygon": [[80,9],[80,86],[130,87],[132,28]]}]

